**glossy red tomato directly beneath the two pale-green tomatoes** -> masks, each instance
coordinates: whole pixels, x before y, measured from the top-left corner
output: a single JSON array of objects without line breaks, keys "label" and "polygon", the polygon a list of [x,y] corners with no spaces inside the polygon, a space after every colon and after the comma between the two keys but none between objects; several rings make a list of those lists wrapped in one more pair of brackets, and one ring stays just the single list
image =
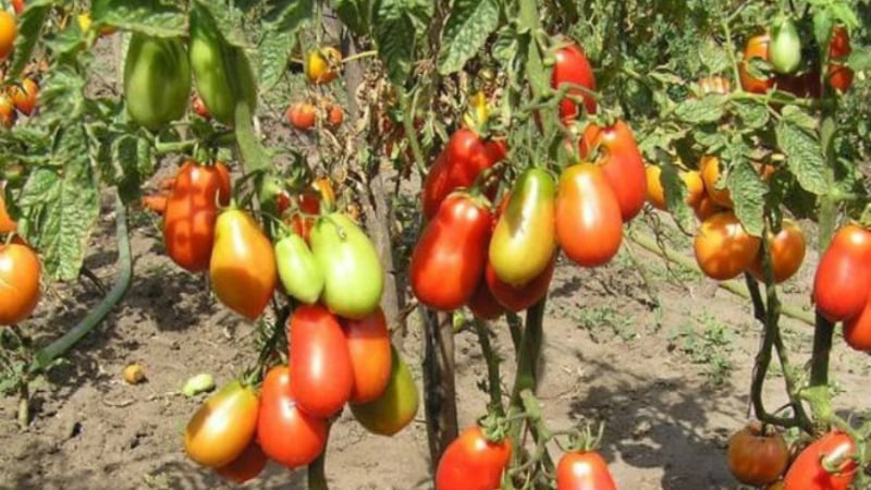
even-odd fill
[{"label": "glossy red tomato directly beneath the two pale-green tomatoes", "polygon": [[354,388],[354,366],[342,327],[321,305],[297,307],[289,327],[294,397],[307,413],[331,417],[347,403]]}]

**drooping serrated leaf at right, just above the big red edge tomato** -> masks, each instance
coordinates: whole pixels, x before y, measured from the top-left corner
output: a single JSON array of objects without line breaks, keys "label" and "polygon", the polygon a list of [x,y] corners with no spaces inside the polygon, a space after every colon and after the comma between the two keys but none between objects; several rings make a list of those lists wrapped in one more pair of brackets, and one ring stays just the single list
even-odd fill
[{"label": "drooping serrated leaf at right, just above the big red edge tomato", "polygon": [[812,194],[825,194],[825,160],[820,142],[786,119],[781,120],[775,133],[786,164],[801,187]]}]

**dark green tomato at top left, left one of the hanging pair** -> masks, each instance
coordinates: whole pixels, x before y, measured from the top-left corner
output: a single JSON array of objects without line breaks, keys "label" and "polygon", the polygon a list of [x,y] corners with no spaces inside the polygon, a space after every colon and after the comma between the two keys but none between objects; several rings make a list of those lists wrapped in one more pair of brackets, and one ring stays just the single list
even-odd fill
[{"label": "dark green tomato at top left, left one of the hanging pair", "polygon": [[191,96],[191,65],[179,38],[134,33],[124,62],[127,113],[149,130],[181,119]]}]

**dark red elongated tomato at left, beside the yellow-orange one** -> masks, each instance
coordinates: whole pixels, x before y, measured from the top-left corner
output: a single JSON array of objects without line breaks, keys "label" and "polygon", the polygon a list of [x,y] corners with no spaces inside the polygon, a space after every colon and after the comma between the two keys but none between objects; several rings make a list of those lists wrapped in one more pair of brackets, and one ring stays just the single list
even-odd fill
[{"label": "dark red elongated tomato at left, beside the yellow-orange one", "polygon": [[209,268],[214,246],[218,206],[230,203],[230,175],[221,162],[199,166],[185,162],[163,211],[167,255],[180,267],[200,272]]}]

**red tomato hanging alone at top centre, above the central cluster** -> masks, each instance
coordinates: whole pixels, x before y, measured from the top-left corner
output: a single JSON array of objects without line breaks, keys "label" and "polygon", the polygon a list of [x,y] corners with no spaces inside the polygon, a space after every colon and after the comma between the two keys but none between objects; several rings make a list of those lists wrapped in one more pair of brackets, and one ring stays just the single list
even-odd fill
[{"label": "red tomato hanging alone at top centre, above the central cluster", "polygon": [[[554,53],[553,72],[551,73],[551,87],[560,89],[563,84],[578,85],[588,90],[596,90],[596,77],[587,54],[576,44],[556,50]],[[596,113],[596,98],[580,88],[569,88],[568,96],[579,97],[584,100],[584,108],[588,114]],[[560,119],[563,123],[574,121],[579,117],[578,105],[566,97],[560,101]]]}]

